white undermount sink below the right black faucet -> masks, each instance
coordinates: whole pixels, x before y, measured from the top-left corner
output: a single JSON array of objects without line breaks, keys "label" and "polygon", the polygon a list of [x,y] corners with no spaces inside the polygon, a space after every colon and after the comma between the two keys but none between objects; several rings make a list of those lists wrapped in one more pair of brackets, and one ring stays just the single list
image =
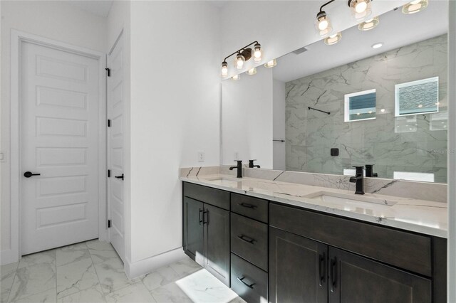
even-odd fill
[{"label": "white undermount sink below the right black faucet", "polygon": [[327,203],[343,203],[343,204],[359,204],[359,203],[374,203],[382,206],[393,206],[397,201],[390,199],[375,198],[371,196],[351,195],[348,193],[333,193],[331,191],[318,191],[311,193],[306,198],[315,199]]}]

